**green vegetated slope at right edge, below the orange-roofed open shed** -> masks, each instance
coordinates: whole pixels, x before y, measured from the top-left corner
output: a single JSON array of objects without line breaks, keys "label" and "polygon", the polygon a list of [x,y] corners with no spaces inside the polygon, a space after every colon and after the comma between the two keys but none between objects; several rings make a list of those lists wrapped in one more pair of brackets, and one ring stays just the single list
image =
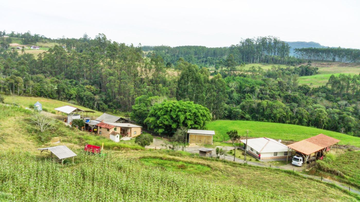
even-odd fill
[{"label": "green vegetated slope at right edge, below the orange-roofed open shed", "polygon": [[360,151],[329,153],[323,161],[319,161],[316,168],[321,171],[319,175],[325,172],[339,181],[360,188]]}]

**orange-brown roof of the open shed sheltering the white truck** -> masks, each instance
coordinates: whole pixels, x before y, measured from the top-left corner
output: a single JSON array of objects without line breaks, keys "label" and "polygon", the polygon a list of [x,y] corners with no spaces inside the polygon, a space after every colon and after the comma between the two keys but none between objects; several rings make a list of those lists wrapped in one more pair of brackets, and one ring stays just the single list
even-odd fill
[{"label": "orange-brown roof of the open shed sheltering the white truck", "polygon": [[303,154],[309,155],[338,142],[340,142],[340,140],[324,134],[319,134],[311,138],[301,140],[300,142],[289,144],[288,147]]}]

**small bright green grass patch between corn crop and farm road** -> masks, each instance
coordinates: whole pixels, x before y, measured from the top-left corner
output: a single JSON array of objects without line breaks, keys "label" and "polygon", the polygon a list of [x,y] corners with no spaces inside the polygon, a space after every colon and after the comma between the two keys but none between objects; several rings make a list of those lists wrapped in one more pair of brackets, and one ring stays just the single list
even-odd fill
[{"label": "small bright green grass patch between corn crop and farm road", "polygon": [[181,171],[187,174],[201,174],[211,170],[210,167],[204,165],[186,163],[182,161],[169,161],[160,158],[140,158],[140,161],[147,166],[160,166],[167,170]]}]

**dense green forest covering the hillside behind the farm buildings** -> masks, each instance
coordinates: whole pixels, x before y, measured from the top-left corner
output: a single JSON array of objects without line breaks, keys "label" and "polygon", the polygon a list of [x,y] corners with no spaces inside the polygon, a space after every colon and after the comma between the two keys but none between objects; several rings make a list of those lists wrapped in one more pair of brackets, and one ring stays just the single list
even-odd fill
[{"label": "dense green forest covering the hillside behind the farm buildings", "polygon": [[[243,40],[230,48],[234,54],[229,53],[215,72],[183,58],[173,58],[174,64],[168,64],[155,53],[144,57],[141,47],[112,42],[103,34],[94,39],[87,35],[58,39],[66,49],[55,45],[36,59],[26,51],[19,54],[1,49],[0,90],[63,100],[98,111],[131,112],[135,108],[142,113],[140,117],[147,115],[154,102],[192,101],[206,107],[216,120],[278,122],[358,135],[359,75],[332,76],[326,86],[311,88],[298,85],[299,76],[318,72],[311,63],[273,66],[266,71],[256,66],[236,67],[240,61],[286,62],[289,46],[282,41],[271,46],[274,40]],[[174,69],[180,71],[170,76]]]}]

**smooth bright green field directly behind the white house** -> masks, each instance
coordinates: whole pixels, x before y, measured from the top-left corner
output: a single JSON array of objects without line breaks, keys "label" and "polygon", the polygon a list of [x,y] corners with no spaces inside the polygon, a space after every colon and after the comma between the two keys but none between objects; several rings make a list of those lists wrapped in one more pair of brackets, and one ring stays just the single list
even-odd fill
[{"label": "smooth bright green field directly behind the white house", "polygon": [[360,147],[359,137],[341,134],[329,130],[321,130],[313,127],[292,124],[278,124],[258,121],[218,120],[208,123],[206,128],[208,130],[215,131],[215,135],[213,136],[213,140],[215,142],[229,140],[229,136],[226,134],[226,132],[229,130],[237,130],[238,133],[242,136],[246,136],[246,130],[249,130],[249,137],[267,137],[293,141],[300,141],[322,133],[324,135],[341,140],[339,144],[355,145],[356,147]]}]

